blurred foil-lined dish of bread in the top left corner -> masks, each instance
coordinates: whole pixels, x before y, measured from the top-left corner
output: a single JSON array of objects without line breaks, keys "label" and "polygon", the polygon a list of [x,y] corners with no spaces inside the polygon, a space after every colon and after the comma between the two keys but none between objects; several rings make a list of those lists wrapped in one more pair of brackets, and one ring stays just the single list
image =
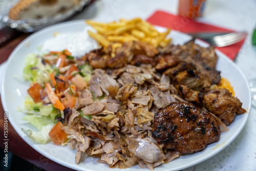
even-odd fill
[{"label": "blurred foil-lined dish of bread in the top left corner", "polygon": [[0,21],[22,32],[35,32],[62,22],[91,0],[9,0],[0,5]]}]

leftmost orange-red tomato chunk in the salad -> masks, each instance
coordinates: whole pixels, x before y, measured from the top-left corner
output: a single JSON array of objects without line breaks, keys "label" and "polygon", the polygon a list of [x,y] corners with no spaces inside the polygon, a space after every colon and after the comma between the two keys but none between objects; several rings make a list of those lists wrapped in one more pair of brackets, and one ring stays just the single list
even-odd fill
[{"label": "leftmost orange-red tomato chunk in the salad", "polygon": [[35,83],[28,89],[28,94],[30,95],[30,97],[32,97],[35,103],[42,101],[40,92],[42,97],[46,96],[46,92],[44,91],[44,89],[42,89],[39,83]]}]

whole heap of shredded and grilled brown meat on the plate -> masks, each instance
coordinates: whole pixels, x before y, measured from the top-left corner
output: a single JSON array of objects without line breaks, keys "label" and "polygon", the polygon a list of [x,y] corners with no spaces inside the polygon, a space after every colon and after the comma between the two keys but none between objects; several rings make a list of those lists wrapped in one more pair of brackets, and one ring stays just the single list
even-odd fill
[{"label": "whole heap of shredded and grilled brown meat on the plate", "polygon": [[[160,50],[144,43],[125,42],[116,50],[115,57],[103,49],[87,54],[86,61],[95,69],[94,74],[87,87],[78,93],[69,124],[63,127],[71,139],[70,147],[76,148],[76,163],[84,160],[81,156],[97,155],[98,162],[111,168],[127,168],[137,163],[142,168],[154,169],[183,153],[200,151],[206,144],[218,141],[220,128],[215,117],[224,123],[228,118],[229,123],[236,112],[241,114],[244,110],[242,103],[227,90],[210,90],[220,80],[220,73],[215,70],[217,56],[207,49],[210,59],[214,59],[208,60],[204,49],[198,48],[193,42]],[[211,105],[212,99],[217,98],[222,100],[219,103],[225,101],[224,109]],[[237,105],[226,108],[230,99]],[[178,111],[170,109],[174,104]],[[166,112],[160,115],[159,111]],[[219,114],[222,111],[227,115]],[[183,127],[193,138],[182,139]],[[205,137],[208,132],[213,138]],[[175,134],[181,139],[170,137]],[[201,142],[203,138],[205,142]],[[181,144],[181,140],[191,140],[190,146],[195,144],[193,149]]]}]

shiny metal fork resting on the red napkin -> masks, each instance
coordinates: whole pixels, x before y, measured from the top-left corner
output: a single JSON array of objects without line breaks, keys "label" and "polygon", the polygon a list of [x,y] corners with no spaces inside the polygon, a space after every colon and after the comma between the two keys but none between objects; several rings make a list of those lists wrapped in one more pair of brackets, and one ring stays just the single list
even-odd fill
[{"label": "shiny metal fork resting on the red napkin", "polygon": [[208,33],[196,33],[196,34],[189,34],[196,38],[201,38],[205,41],[207,41],[210,45],[215,47],[224,47],[228,45],[235,44],[236,42],[239,42],[243,40],[247,36],[246,31],[241,32],[232,32],[228,34],[217,35],[212,36],[213,34]]}]

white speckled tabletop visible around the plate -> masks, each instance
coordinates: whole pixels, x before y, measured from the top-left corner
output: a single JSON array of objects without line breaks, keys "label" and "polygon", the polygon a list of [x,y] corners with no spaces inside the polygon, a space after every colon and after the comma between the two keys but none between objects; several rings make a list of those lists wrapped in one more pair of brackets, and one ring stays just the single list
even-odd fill
[{"label": "white speckled tabletop visible around the plate", "polygon": [[[98,0],[72,19],[93,19],[98,22],[111,22],[122,17],[146,19],[156,10],[176,14],[177,8],[178,1],[174,0]],[[198,20],[233,30],[247,31],[249,35],[235,63],[247,79],[256,78],[256,47],[251,45],[252,31],[256,26],[256,1],[208,0],[204,16]],[[0,25],[1,27],[3,25]],[[3,64],[0,71],[4,69]],[[256,109],[251,108],[243,131],[222,152],[184,170],[256,170]]]}]

